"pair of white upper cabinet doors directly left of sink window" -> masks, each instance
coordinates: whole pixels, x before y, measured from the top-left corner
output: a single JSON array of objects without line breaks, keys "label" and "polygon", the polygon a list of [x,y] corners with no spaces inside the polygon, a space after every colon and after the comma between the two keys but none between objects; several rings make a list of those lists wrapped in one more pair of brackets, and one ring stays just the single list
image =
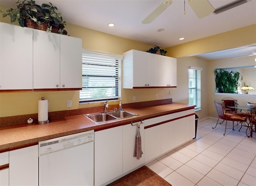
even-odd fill
[{"label": "pair of white upper cabinet doors directly left of sink window", "polygon": [[82,87],[82,41],[34,30],[34,89]]}]

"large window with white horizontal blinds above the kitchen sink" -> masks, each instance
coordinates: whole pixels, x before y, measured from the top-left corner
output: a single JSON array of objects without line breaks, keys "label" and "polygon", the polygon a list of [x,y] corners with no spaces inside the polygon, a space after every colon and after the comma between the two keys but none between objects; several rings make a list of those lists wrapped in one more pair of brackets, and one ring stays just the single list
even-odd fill
[{"label": "large window with white horizontal blinds above the kitchen sink", "polygon": [[120,99],[120,61],[122,56],[82,51],[82,90],[79,101]]}]

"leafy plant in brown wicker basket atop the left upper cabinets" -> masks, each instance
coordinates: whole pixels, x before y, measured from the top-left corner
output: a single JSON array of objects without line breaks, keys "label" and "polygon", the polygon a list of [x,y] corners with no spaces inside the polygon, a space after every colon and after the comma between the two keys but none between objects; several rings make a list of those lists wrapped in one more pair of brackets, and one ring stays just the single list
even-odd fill
[{"label": "leafy plant in brown wicker basket atop the left upper cabinets", "polygon": [[62,21],[61,13],[55,12],[58,8],[50,2],[49,4],[39,6],[33,0],[18,0],[16,2],[17,8],[10,8],[6,13],[3,10],[0,11],[3,13],[3,18],[10,16],[11,23],[15,22],[22,27],[26,26],[63,35],[68,34],[64,30],[66,22]]}]

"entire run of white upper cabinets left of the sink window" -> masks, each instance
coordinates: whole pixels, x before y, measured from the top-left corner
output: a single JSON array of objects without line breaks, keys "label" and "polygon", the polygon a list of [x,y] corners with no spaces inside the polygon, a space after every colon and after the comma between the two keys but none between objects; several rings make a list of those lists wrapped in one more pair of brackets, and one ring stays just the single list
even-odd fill
[{"label": "entire run of white upper cabinets left of the sink window", "polygon": [[0,22],[0,91],[82,89],[82,40]]}]

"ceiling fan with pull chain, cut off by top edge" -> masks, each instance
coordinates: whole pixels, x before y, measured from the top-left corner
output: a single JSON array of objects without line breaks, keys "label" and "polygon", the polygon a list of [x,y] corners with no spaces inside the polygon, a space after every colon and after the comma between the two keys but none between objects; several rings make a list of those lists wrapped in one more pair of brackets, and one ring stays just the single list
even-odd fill
[{"label": "ceiling fan with pull chain, cut off by top edge", "polygon": [[[161,3],[151,14],[146,17],[142,23],[149,24],[154,21],[168,6],[170,6],[175,0],[165,0]],[[208,0],[187,0],[188,4],[194,10],[198,18],[203,18],[214,12],[214,7],[210,4]],[[184,2],[185,3],[185,2]],[[185,14],[185,10],[184,10]]]}]

